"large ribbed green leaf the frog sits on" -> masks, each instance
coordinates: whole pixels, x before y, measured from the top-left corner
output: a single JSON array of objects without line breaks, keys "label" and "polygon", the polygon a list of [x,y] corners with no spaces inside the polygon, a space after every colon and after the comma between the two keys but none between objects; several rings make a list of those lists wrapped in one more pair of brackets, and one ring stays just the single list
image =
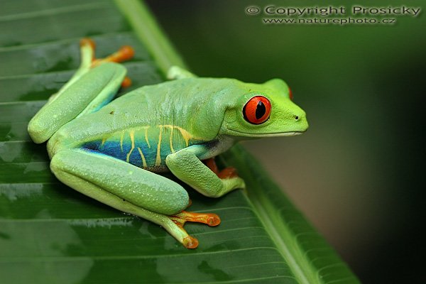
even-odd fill
[{"label": "large ribbed green leaf the frog sits on", "polygon": [[26,126],[79,65],[80,38],[93,38],[99,56],[132,45],[131,88],[182,66],[143,4],[3,0],[0,31],[1,283],[358,283],[241,146],[220,160],[238,168],[246,192],[211,199],[187,188],[192,211],[222,218],[185,226],[195,250],[50,173],[45,144],[32,143]]}]

